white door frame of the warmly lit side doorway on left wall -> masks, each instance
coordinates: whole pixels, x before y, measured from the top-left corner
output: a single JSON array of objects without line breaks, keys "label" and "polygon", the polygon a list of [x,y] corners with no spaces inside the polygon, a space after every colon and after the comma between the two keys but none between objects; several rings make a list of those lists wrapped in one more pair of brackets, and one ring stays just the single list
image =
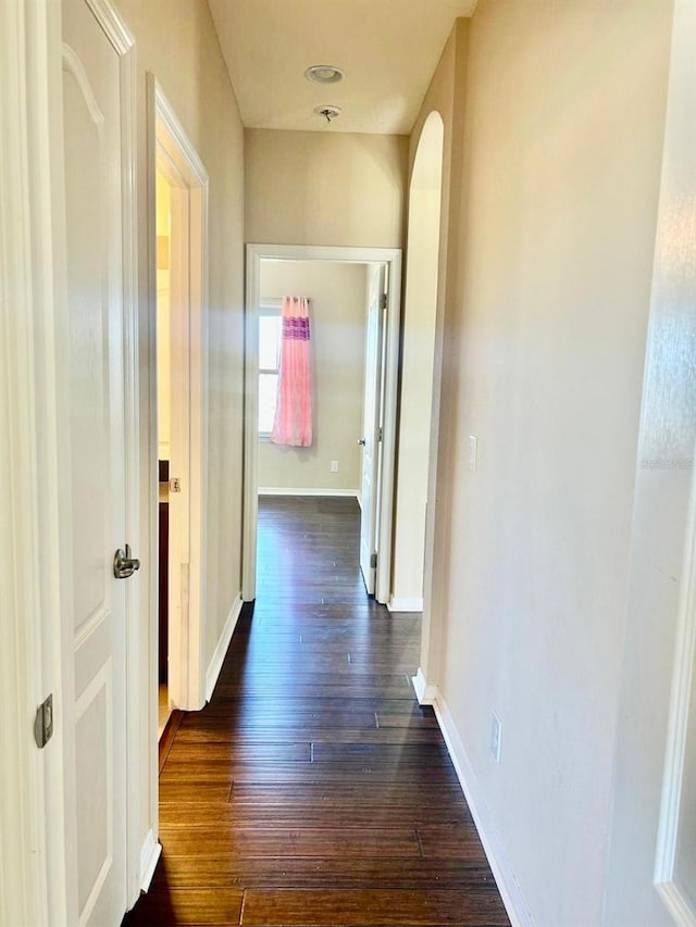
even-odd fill
[{"label": "white door frame of the warmly lit side doorway on left wall", "polygon": [[[148,97],[148,217],[149,291],[151,305],[150,421],[157,422],[157,229],[156,172],[165,165],[172,189],[172,252],[186,264],[187,274],[175,279],[171,299],[173,327],[183,343],[172,380],[172,443],[176,444],[177,477],[182,504],[170,505],[170,543],[178,551],[179,582],[170,569],[169,694],[178,709],[196,711],[206,703],[206,512],[208,504],[208,406],[209,406],[209,300],[208,300],[208,172],[190,142],[157,77],[147,75]],[[177,427],[174,421],[177,419]],[[158,460],[158,434],[149,434],[151,460]],[[158,563],[159,484],[152,475],[150,505],[151,563]],[[178,501],[178,500],[177,500]],[[170,559],[170,564],[172,563]],[[157,653],[158,573],[150,572],[151,642]],[[173,594],[172,594],[173,593]],[[157,662],[150,661],[151,690],[157,693]],[[154,715],[157,712],[154,713]],[[152,742],[157,743],[157,721]]]}]

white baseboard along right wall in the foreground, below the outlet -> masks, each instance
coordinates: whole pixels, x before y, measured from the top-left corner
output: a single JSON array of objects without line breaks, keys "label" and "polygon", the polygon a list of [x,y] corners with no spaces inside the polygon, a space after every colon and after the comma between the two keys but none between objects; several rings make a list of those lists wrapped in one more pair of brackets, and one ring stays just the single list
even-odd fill
[{"label": "white baseboard along right wall in the foreground, below the outlet", "polygon": [[[419,674],[422,676],[420,669]],[[417,678],[418,677],[414,677],[414,686]],[[476,778],[472,765],[469,762],[469,757],[467,756],[467,751],[464,750],[464,744],[461,742],[459,731],[455,725],[455,719],[447,707],[447,703],[437,691],[437,687],[428,687],[425,685],[424,677],[421,685],[424,685],[425,691],[427,691],[428,688],[435,689],[436,696],[433,703],[435,716],[437,717],[437,723],[443,731],[443,737],[445,738],[447,750],[449,751],[455,771],[457,772],[459,784],[461,785],[464,798],[467,799],[467,804],[469,805],[474,824],[476,825],[476,830],[481,837],[483,849],[488,857],[488,864],[493,870],[493,875],[498,886],[498,891],[502,898],[502,903],[508,912],[508,917],[512,923],[512,927],[534,927],[532,914],[522,894],[522,889],[514,877],[510,861],[506,855],[500,840],[500,835],[493,823],[490,810],[486,804],[482,794],[481,786],[478,785],[478,779]]]}]

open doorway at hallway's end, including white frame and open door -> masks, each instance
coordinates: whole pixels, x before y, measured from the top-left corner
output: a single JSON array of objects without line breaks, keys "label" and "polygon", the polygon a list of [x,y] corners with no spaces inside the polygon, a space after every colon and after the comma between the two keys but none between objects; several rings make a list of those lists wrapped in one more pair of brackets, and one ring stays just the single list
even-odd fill
[{"label": "open doorway at hallway's end, including white frame and open door", "polygon": [[[356,500],[365,586],[377,601],[388,599],[399,276],[400,252],[391,249],[248,246],[247,601],[257,591],[259,494]],[[314,434],[303,448],[269,440],[286,296],[303,296],[310,306]]]}]

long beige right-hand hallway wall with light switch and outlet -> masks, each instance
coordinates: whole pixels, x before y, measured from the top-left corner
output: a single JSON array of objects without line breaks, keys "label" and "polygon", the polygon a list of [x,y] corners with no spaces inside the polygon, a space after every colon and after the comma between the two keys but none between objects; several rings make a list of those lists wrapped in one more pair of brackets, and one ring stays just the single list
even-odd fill
[{"label": "long beige right-hand hallway wall with light switch and outlet", "polygon": [[671,9],[484,0],[420,121],[451,141],[423,660],[539,927],[602,916]]}]

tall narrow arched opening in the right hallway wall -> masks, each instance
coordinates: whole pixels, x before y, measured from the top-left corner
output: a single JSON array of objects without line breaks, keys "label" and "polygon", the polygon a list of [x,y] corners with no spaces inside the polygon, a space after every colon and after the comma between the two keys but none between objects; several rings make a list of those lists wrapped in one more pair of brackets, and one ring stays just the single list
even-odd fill
[{"label": "tall narrow arched opening in the right hallway wall", "polygon": [[389,607],[422,612],[426,561],[430,466],[432,459],[436,315],[443,190],[444,124],[430,114],[418,146],[409,191],[409,241],[406,267],[403,349],[397,489],[394,525],[394,585]]}]

